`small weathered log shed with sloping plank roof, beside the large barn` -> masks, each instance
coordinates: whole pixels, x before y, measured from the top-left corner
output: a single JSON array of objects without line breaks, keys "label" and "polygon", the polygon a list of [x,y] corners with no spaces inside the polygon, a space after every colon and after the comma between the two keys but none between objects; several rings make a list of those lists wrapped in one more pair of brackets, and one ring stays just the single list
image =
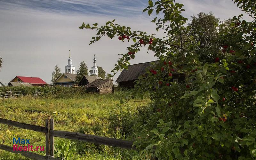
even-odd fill
[{"label": "small weathered log shed with sloping plank roof, beside the large barn", "polygon": [[84,86],[86,91],[98,92],[100,94],[113,92],[113,79],[96,79]]}]

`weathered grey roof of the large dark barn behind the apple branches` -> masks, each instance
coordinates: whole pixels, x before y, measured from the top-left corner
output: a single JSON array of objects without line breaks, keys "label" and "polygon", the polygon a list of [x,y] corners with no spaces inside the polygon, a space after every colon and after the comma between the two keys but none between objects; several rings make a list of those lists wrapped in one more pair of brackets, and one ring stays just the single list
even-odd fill
[{"label": "weathered grey roof of the large dark barn behind the apple branches", "polygon": [[151,66],[153,62],[157,62],[157,60],[129,65],[128,69],[124,69],[121,72],[121,74],[116,79],[116,82],[131,81],[138,79],[139,76],[143,75],[146,72],[145,69]]}]

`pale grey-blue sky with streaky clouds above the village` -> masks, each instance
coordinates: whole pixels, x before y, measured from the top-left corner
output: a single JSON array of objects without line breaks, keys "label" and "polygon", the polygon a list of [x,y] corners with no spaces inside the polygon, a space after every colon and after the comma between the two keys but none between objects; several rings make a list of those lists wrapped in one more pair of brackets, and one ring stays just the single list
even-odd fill
[{"label": "pale grey-blue sky with streaky clouds above the village", "polygon": [[[184,4],[182,13],[189,20],[199,12],[212,12],[220,20],[244,14],[232,0],[176,0]],[[64,72],[69,53],[78,69],[81,61],[87,67],[93,66],[94,54],[97,66],[111,73],[119,53],[126,53],[131,42],[121,42],[103,37],[91,44],[96,32],[78,27],[90,23],[104,25],[116,19],[116,23],[129,26],[132,30],[143,30],[148,34],[157,33],[156,25],[142,10],[147,0],[0,0],[0,57],[3,67],[0,81],[8,84],[15,76],[40,77],[50,84],[55,65]],[[244,17],[250,20],[245,15]],[[71,50],[69,52],[69,50]],[[147,47],[136,53],[131,64],[156,60],[154,53],[147,54]],[[114,76],[114,81],[120,71]]]}]

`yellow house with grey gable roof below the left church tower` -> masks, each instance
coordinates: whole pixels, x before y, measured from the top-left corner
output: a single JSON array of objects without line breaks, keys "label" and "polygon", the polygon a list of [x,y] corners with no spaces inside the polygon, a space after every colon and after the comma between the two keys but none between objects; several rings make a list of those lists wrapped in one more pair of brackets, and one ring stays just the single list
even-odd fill
[{"label": "yellow house with grey gable roof below the left church tower", "polygon": [[55,86],[60,87],[76,87],[78,82],[76,82],[76,75],[71,73],[62,73],[54,82]]}]

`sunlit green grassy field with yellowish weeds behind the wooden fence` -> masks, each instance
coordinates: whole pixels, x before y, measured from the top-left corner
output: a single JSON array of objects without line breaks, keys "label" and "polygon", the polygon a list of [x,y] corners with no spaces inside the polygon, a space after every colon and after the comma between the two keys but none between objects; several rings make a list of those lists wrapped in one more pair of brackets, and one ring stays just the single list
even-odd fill
[{"label": "sunlit green grassy field with yellowish weeds behind the wooden fence", "polygon": [[[137,107],[147,105],[150,100],[147,96],[143,100],[130,100],[120,109],[115,104],[118,104],[120,98],[123,97],[124,92],[116,92],[107,95],[89,93],[69,95],[60,99],[34,99],[32,97],[5,99],[0,100],[0,117],[21,123],[45,126],[45,119],[51,116],[55,120],[55,130],[132,140],[132,134],[128,134],[125,127],[122,128],[122,125],[118,126],[118,124],[125,123],[122,119],[124,115],[126,119],[132,119]],[[34,146],[44,146],[45,144],[45,134],[43,133],[0,124],[1,143],[12,146],[13,137],[30,139],[30,143]],[[66,159],[143,159],[138,152],[132,150],[78,141],[74,141],[75,145],[73,146],[72,142],[72,140],[55,138],[54,146],[57,148],[55,156],[63,157],[61,152],[64,151],[60,149],[62,146],[62,150],[69,151],[70,157],[66,157]],[[44,151],[36,152],[45,154]],[[23,160],[26,158],[0,150],[0,159]]]}]

